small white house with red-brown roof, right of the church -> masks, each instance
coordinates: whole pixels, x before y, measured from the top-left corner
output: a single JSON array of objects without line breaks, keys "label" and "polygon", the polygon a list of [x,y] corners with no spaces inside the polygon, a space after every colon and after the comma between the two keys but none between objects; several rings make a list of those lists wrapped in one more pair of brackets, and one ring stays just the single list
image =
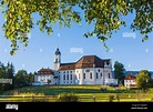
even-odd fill
[{"label": "small white house with red-brown roof, right of the church", "polygon": [[129,73],[124,79],[124,85],[129,88],[136,88],[136,81],[134,75],[132,73]]}]

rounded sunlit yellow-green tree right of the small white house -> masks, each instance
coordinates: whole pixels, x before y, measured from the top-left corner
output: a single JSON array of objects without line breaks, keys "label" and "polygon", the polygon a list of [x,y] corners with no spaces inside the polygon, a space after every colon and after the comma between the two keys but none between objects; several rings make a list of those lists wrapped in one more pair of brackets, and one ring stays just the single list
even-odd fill
[{"label": "rounded sunlit yellow-green tree right of the small white house", "polygon": [[136,75],[136,86],[146,90],[150,86],[151,73],[147,70],[141,70]]}]

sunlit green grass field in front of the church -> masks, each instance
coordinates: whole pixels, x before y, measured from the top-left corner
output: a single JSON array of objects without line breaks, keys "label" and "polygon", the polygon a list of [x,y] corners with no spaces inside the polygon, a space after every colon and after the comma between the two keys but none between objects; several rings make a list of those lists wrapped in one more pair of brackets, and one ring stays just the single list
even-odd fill
[{"label": "sunlit green grass field in front of the church", "polygon": [[[27,86],[6,91],[0,93],[0,102],[4,101],[31,101],[32,95],[37,95],[41,99],[43,96],[50,96],[49,102],[53,102],[54,98],[58,98],[60,93],[74,93],[79,96],[80,102],[93,102],[93,94],[95,95],[95,102],[109,102],[109,96],[114,95],[113,102],[118,102],[116,94],[119,93],[120,102],[153,102],[153,89],[150,89],[146,93],[137,93],[135,90],[115,90],[112,86],[105,86],[106,91],[102,91],[104,86],[101,85],[44,85],[44,86]],[[11,95],[11,96],[10,96]],[[28,100],[26,100],[28,98]],[[41,100],[42,102],[45,99]]]}]

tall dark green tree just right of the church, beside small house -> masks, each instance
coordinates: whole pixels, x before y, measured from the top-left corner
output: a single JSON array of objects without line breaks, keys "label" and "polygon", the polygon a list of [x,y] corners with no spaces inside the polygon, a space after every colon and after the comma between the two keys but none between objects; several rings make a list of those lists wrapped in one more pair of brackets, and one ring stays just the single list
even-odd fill
[{"label": "tall dark green tree just right of the church, beside small house", "polygon": [[114,75],[115,75],[115,79],[118,79],[119,83],[122,83],[124,82],[124,79],[125,79],[125,69],[124,69],[124,65],[118,61],[114,62]]}]

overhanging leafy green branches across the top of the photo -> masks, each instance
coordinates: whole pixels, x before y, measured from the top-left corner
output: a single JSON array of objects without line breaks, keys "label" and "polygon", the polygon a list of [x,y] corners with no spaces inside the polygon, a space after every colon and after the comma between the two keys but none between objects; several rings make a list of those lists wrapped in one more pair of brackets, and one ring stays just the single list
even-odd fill
[{"label": "overhanging leafy green branches across the top of the photo", "polygon": [[[0,0],[0,4],[6,19],[2,28],[11,41],[11,54],[20,48],[19,42],[28,45],[27,35],[34,24],[50,34],[55,23],[70,28],[72,21],[80,23],[84,19],[88,24],[93,24],[93,30],[85,32],[84,37],[96,35],[104,47],[113,32],[126,26],[123,17],[130,13],[135,14],[130,28],[143,34],[142,41],[153,30],[152,0]],[[37,22],[33,13],[40,16]]]}]

